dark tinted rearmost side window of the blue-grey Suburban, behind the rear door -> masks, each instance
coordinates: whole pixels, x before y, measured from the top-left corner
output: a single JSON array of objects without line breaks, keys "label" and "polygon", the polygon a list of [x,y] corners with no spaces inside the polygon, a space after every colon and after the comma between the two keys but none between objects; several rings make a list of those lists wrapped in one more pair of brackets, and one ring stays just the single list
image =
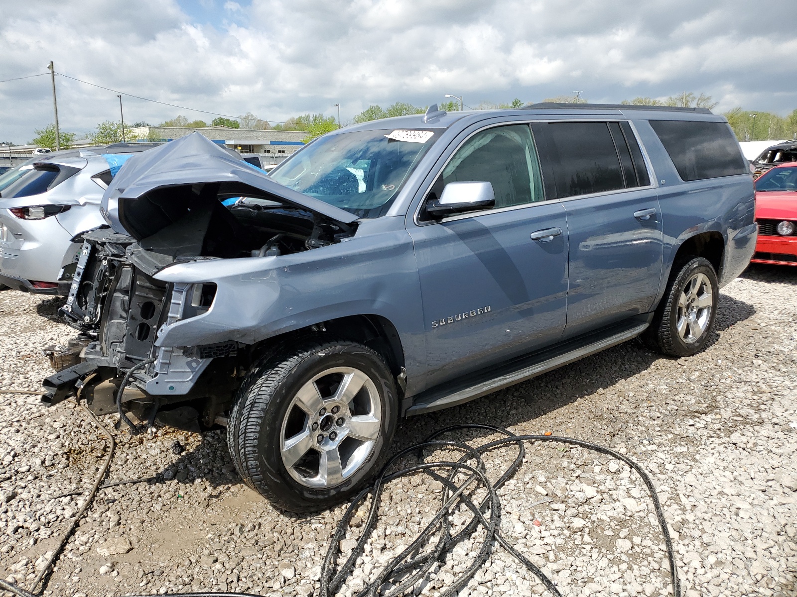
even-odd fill
[{"label": "dark tinted rearmost side window of the blue-grey Suburban, behind the rear door", "polygon": [[750,174],[739,143],[725,123],[651,120],[681,180]]}]

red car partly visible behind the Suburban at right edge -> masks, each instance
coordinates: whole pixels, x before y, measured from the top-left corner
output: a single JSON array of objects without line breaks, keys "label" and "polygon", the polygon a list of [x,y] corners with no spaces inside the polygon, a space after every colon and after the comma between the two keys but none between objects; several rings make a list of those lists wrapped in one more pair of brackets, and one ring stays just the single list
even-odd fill
[{"label": "red car partly visible behind the Suburban at right edge", "polygon": [[779,164],[756,179],[756,221],[751,260],[797,266],[797,162]]}]

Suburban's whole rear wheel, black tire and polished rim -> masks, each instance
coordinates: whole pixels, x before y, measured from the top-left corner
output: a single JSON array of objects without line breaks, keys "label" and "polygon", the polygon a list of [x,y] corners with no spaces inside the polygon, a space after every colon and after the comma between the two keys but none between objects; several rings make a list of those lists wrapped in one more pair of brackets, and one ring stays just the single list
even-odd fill
[{"label": "Suburban's whole rear wheel, black tire and polished rim", "polygon": [[708,259],[693,257],[673,268],[667,291],[642,341],[669,357],[690,357],[709,341],[720,294]]}]

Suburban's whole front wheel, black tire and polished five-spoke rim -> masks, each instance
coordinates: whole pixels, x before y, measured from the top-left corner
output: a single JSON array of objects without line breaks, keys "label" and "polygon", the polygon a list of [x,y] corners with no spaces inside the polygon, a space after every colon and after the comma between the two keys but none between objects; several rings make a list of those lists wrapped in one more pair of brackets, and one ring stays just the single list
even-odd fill
[{"label": "Suburban's whole front wheel, black tire and polished five-spoke rim", "polygon": [[398,404],[377,353],[305,341],[256,367],[230,415],[227,442],[244,481],[278,508],[344,501],[387,457]]}]

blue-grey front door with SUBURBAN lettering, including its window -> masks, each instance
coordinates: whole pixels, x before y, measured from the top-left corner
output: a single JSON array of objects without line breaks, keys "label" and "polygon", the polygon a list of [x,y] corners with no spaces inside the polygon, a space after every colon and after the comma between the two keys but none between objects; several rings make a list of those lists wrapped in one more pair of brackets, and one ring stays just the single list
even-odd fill
[{"label": "blue-grey front door with SUBURBAN lettering, including its window", "polygon": [[545,201],[528,125],[466,139],[429,194],[440,197],[453,181],[489,181],[496,205],[408,224],[421,280],[426,388],[555,343],[567,310],[565,211]]}]

